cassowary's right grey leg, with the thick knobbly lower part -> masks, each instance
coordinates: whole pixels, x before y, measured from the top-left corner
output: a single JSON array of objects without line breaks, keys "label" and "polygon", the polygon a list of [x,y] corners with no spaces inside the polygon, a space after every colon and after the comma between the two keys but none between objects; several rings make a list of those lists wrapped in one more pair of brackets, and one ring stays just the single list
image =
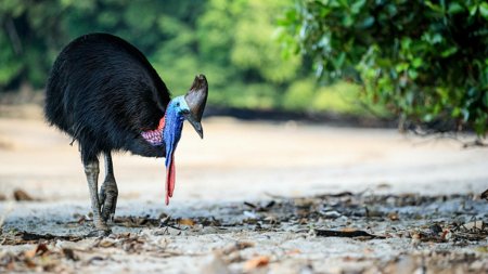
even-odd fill
[{"label": "cassowary's right grey leg, with the thick knobbly lower part", "polygon": [[102,210],[102,219],[104,221],[113,221],[115,208],[117,207],[118,188],[115,182],[114,168],[112,166],[111,153],[105,154],[105,181],[100,190],[100,205]]}]

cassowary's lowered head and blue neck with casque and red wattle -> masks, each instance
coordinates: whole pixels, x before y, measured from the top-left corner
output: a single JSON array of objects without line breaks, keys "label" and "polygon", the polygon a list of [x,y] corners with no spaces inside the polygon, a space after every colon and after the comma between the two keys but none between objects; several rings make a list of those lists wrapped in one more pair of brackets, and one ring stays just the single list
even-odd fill
[{"label": "cassowary's lowered head and blue neck with casque and red wattle", "polygon": [[203,139],[202,116],[207,103],[208,83],[205,76],[195,77],[185,95],[172,99],[166,107],[163,140],[166,147],[166,205],[175,190],[175,151],[187,119]]}]

